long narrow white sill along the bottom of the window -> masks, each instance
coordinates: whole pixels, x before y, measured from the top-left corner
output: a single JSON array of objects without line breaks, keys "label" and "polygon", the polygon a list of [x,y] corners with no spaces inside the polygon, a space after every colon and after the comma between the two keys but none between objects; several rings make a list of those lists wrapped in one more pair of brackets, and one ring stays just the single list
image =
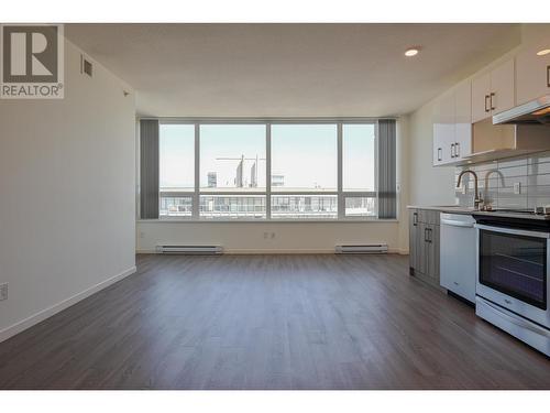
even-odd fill
[{"label": "long narrow white sill along the bottom of the window", "polygon": [[384,224],[399,222],[399,219],[138,219],[138,222],[158,224]]}]

